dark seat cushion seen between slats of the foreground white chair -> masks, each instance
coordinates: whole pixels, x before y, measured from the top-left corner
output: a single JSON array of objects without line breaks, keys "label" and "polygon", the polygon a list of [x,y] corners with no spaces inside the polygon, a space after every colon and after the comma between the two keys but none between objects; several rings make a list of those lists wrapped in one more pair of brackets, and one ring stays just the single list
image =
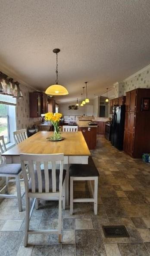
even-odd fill
[{"label": "dark seat cushion seen between slats of the foreground white chair", "polygon": [[[45,192],[45,174],[44,170],[41,170],[42,173],[42,192]],[[49,187],[50,192],[52,192],[52,170],[48,170],[49,173]],[[59,170],[56,170],[56,191],[59,191]],[[63,170],[63,182],[65,180],[66,176],[66,170]],[[29,191],[31,192],[31,178],[29,181]],[[35,192],[38,192],[38,174],[37,171],[35,171]]]}]

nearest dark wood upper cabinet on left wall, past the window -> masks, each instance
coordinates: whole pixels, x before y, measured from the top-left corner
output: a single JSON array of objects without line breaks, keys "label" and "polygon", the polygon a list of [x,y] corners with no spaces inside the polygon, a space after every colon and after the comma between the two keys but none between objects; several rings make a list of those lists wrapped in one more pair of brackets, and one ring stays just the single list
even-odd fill
[{"label": "nearest dark wood upper cabinet on left wall, past the window", "polygon": [[30,92],[30,117],[41,117],[47,113],[47,95],[43,92]]}]

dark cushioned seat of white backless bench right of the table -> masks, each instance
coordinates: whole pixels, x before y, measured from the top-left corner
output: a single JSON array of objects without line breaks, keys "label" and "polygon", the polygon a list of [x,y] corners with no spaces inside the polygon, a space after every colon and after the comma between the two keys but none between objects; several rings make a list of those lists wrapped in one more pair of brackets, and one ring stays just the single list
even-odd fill
[{"label": "dark cushioned seat of white backless bench right of the table", "polygon": [[88,164],[71,164],[69,175],[72,177],[98,177],[100,176],[92,157],[88,158]]}]

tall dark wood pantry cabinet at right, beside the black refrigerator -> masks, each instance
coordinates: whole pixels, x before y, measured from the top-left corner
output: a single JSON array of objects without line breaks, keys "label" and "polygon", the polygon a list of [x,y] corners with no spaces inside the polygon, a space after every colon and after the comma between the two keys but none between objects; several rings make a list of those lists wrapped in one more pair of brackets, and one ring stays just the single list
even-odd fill
[{"label": "tall dark wood pantry cabinet at right, beside the black refrigerator", "polygon": [[150,153],[150,108],[142,110],[150,89],[135,89],[126,93],[124,151],[133,158]]}]

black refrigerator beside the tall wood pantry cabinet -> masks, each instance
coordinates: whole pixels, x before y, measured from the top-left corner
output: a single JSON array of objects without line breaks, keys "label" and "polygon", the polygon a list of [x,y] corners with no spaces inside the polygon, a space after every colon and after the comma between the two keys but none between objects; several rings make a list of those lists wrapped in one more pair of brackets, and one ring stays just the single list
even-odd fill
[{"label": "black refrigerator beside the tall wood pantry cabinet", "polygon": [[112,112],[111,144],[119,150],[123,150],[125,105],[113,106]]}]

